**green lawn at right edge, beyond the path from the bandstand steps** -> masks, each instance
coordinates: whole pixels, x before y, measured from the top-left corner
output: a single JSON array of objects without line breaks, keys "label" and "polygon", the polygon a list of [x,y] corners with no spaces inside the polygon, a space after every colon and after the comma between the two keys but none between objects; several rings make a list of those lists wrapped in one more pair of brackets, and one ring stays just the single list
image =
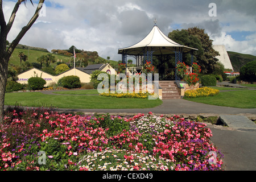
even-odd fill
[{"label": "green lawn at right edge, beyond the path from the bandstand steps", "polygon": [[217,96],[184,99],[217,106],[256,108],[256,90],[236,90],[220,92]]}]

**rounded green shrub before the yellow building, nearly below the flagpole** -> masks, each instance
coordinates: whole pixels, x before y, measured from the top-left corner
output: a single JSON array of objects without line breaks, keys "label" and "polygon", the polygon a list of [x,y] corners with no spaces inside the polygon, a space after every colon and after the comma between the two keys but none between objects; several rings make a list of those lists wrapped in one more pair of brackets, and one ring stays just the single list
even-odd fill
[{"label": "rounded green shrub before the yellow building, nearly below the flagpole", "polygon": [[60,78],[60,80],[58,81],[58,85],[68,89],[80,88],[81,81],[78,76],[65,76],[63,78]]}]

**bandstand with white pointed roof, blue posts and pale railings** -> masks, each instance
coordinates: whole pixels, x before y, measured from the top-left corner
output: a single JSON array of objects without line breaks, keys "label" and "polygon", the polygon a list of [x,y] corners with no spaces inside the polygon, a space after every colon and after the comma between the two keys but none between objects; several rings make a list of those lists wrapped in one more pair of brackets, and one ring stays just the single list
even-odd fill
[{"label": "bandstand with white pointed roof, blue posts and pale railings", "polygon": [[[159,64],[164,63],[164,61],[170,59],[171,56],[175,56],[175,65],[178,62],[183,62],[182,55],[183,53],[191,53],[191,67],[189,67],[189,72],[192,72],[192,63],[193,63],[193,52],[197,51],[196,48],[191,48],[187,46],[180,45],[166,35],[155,25],[150,31],[150,33],[133,46],[126,48],[119,48],[118,54],[122,55],[122,63],[126,64],[126,73],[141,73],[143,65],[146,64],[146,61],[153,62],[153,56],[158,57]],[[127,57],[132,56],[136,59],[136,67],[127,68]],[[170,74],[174,73],[174,74]],[[176,69],[159,69],[160,75],[168,75],[166,78],[168,80],[180,80],[177,76]]]}]

